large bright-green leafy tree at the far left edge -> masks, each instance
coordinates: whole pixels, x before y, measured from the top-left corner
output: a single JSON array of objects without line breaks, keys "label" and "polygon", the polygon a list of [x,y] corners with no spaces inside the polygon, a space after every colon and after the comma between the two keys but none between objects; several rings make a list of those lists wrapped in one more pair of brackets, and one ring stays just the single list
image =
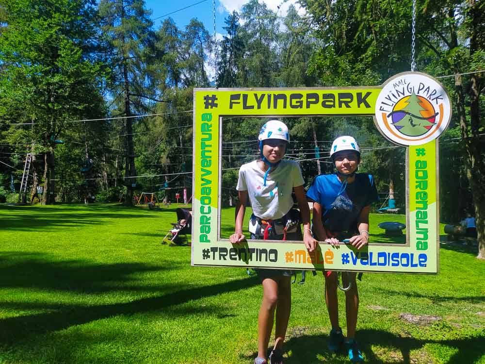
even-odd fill
[{"label": "large bright-green leafy tree at the far left edge", "polygon": [[55,201],[55,140],[67,121],[102,113],[97,88],[102,66],[93,52],[95,5],[93,0],[2,1],[0,115],[6,123],[27,124],[12,125],[9,141],[30,144],[23,151],[44,159],[45,203]]}]

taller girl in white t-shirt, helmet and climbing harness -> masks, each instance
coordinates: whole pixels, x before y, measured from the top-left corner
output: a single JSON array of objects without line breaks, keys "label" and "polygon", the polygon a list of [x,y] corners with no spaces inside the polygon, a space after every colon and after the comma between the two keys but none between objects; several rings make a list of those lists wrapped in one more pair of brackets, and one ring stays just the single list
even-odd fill
[{"label": "taller girl in white t-shirt, helmet and climbing harness", "polygon": [[[249,223],[252,239],[302,240],[299,225],[290,213],[294,191],[303,221],[303,240],[309,252],[318,243],[310,231],[310,210],[303,189],[303,177],[299,165],[283,160],[290,142],[288,127],[279,120],[265,123],[259,132],[261,159],[241,166],[237,189],[241,206],[236,215],[233,244],[241,243],[242,222],[248,199],[253,216]],[[287,226],[288,230],[282,229]],[[283,363],[282,346],[291,311],[291,274],[283,270],[258,269],[263,286],[263,300],[258,317],[258,357],[254,364],[267,364],[266,352],[273,329],[276,311],[275,345],[270,354],[271,364]]]}]

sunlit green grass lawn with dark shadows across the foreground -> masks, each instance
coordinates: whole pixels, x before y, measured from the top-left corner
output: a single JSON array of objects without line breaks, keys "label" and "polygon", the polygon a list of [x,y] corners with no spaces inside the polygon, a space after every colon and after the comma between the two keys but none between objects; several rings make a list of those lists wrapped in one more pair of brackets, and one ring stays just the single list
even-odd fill
[{"label": "sunlit green grass lawn with dark shadows across the foreground", "polygon": [[[0,205],[0,363],[252,363],[258,280],[191,267],[190,247],[161,245],[175,207]],[[225,209],[223,235],[233,218]],[[372,233],[383,220],[404,215],[372,215]],[[364,274],[357,340],[367,362],[485,363],[476,253],[443,244],[436,276]],[[293,285],[286,363],[347,363],[326,350],[329,330],[323,276],[307,274]]]}]

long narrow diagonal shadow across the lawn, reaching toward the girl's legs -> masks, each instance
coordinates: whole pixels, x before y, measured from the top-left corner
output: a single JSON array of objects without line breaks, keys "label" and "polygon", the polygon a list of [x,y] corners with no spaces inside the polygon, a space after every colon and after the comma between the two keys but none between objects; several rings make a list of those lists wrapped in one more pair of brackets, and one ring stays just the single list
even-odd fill
[{"label": "long narrow diagonal shadow across the lawn, reaching toward the girl's legs", "polygon": [[[53,312],[30,314],[24,316],[0,319],[0,345],[15,347],[21,341],[52,331],[67,329],[71,326],[86,324],[95,320],[118,315],[132,315],[168,309],[200,298],[235,292],[259,285],[257,278],[246,278],[238,281],[228,281],[211,286],[181,289],[173,293],[156,297],[143,298],[126,303],[108,305],[59,305]],[[26,304],[28,305],[28,304]],[[191,309],[196,311],[211,311],[214,308]]]}]

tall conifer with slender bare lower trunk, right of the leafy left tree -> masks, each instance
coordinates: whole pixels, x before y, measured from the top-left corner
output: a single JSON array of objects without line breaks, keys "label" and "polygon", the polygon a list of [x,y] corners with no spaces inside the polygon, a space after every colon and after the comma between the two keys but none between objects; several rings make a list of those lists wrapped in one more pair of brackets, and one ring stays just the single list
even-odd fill
[{"label": "tall conifer with slender bare lower trunk, right of the leafy left tree", "polygon": [[[133,117],[148,109],[146,102],[155,99],[148,72],[154,57],[154,33],[150,13],[143,0],[102,0],[99,4],[102,17],[102,34],[112,69],[110,88],[117,102],[118,112],[125,116],[124,162],[127,193],[125,205],[133,204],[136,186],[135,150],[133,145]],[[150,87],[148,87],[150,86]]]}]

